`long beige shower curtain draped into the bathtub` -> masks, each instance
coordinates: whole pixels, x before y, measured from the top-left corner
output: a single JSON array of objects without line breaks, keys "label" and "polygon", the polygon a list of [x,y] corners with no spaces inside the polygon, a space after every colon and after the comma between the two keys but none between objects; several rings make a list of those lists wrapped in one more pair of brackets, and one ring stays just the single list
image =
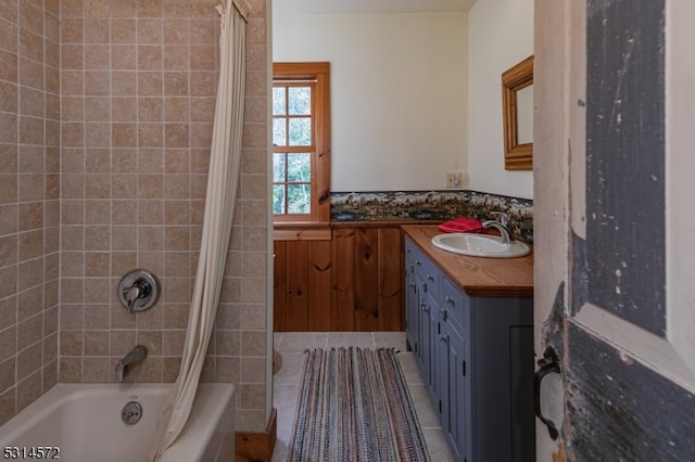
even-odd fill
[{"label": "long beige shower curtain draped into the bathtub", "polygon": [[213,331],[235,215],[245,78],[245,0],[223,0],[220,68],[213,140],[207,174],[207,195],[188,331],[178,378],[160,409],[160,422],[150,460],[156,461],[176,440],[188,420],[205,351]]}]

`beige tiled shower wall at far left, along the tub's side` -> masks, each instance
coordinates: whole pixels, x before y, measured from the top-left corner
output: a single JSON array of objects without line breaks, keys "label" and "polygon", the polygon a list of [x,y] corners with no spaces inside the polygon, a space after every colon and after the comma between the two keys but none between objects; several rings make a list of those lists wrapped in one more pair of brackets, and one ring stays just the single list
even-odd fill
[{"label": "beige tiled shower wall at far left, along the tub's side", "polygon": [[59,3],[0,1],[0,424],[58,374]]}]

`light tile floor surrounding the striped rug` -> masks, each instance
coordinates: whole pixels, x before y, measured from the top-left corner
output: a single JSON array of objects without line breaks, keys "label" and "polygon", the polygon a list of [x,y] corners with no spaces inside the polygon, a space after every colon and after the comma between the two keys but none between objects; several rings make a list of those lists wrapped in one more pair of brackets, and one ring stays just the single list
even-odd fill
[{"label": "light tile floor surrounding the striped rug", "polygon": [[405,373],[417,418],[422,427],[432,461],[453,461],[451,450],[431,400],[427,394],[420,371],[412,352],[405,350],[405,332],[282,332],[275,334],[275,357],[279,362],[274,374],[273,406],[278,410],[278,439],[273,462],[287,460],[288,445],[292,437],[292,424],[296,408],[304,354],[306,348],[339,346],[394,347]]}]

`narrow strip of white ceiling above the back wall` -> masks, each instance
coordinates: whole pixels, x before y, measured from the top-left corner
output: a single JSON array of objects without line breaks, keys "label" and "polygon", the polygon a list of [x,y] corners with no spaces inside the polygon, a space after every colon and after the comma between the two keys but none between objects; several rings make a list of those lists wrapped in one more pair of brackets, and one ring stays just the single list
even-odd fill
[{"label": "narrow strip of white ceiling above the back wall", "polygon": [[416,13],[468,11],[476,0],[273,0],[283,14]]}]

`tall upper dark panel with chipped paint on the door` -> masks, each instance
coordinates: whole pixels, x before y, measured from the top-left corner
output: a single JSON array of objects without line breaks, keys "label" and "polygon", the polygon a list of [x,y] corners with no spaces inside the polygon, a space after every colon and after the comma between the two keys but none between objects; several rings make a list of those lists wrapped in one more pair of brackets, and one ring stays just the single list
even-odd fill
[{"label": "tall upper dark panel with chipped paint on the door", "polygon": [[665,0],[586,4],[586,297],[664,336]]}]

